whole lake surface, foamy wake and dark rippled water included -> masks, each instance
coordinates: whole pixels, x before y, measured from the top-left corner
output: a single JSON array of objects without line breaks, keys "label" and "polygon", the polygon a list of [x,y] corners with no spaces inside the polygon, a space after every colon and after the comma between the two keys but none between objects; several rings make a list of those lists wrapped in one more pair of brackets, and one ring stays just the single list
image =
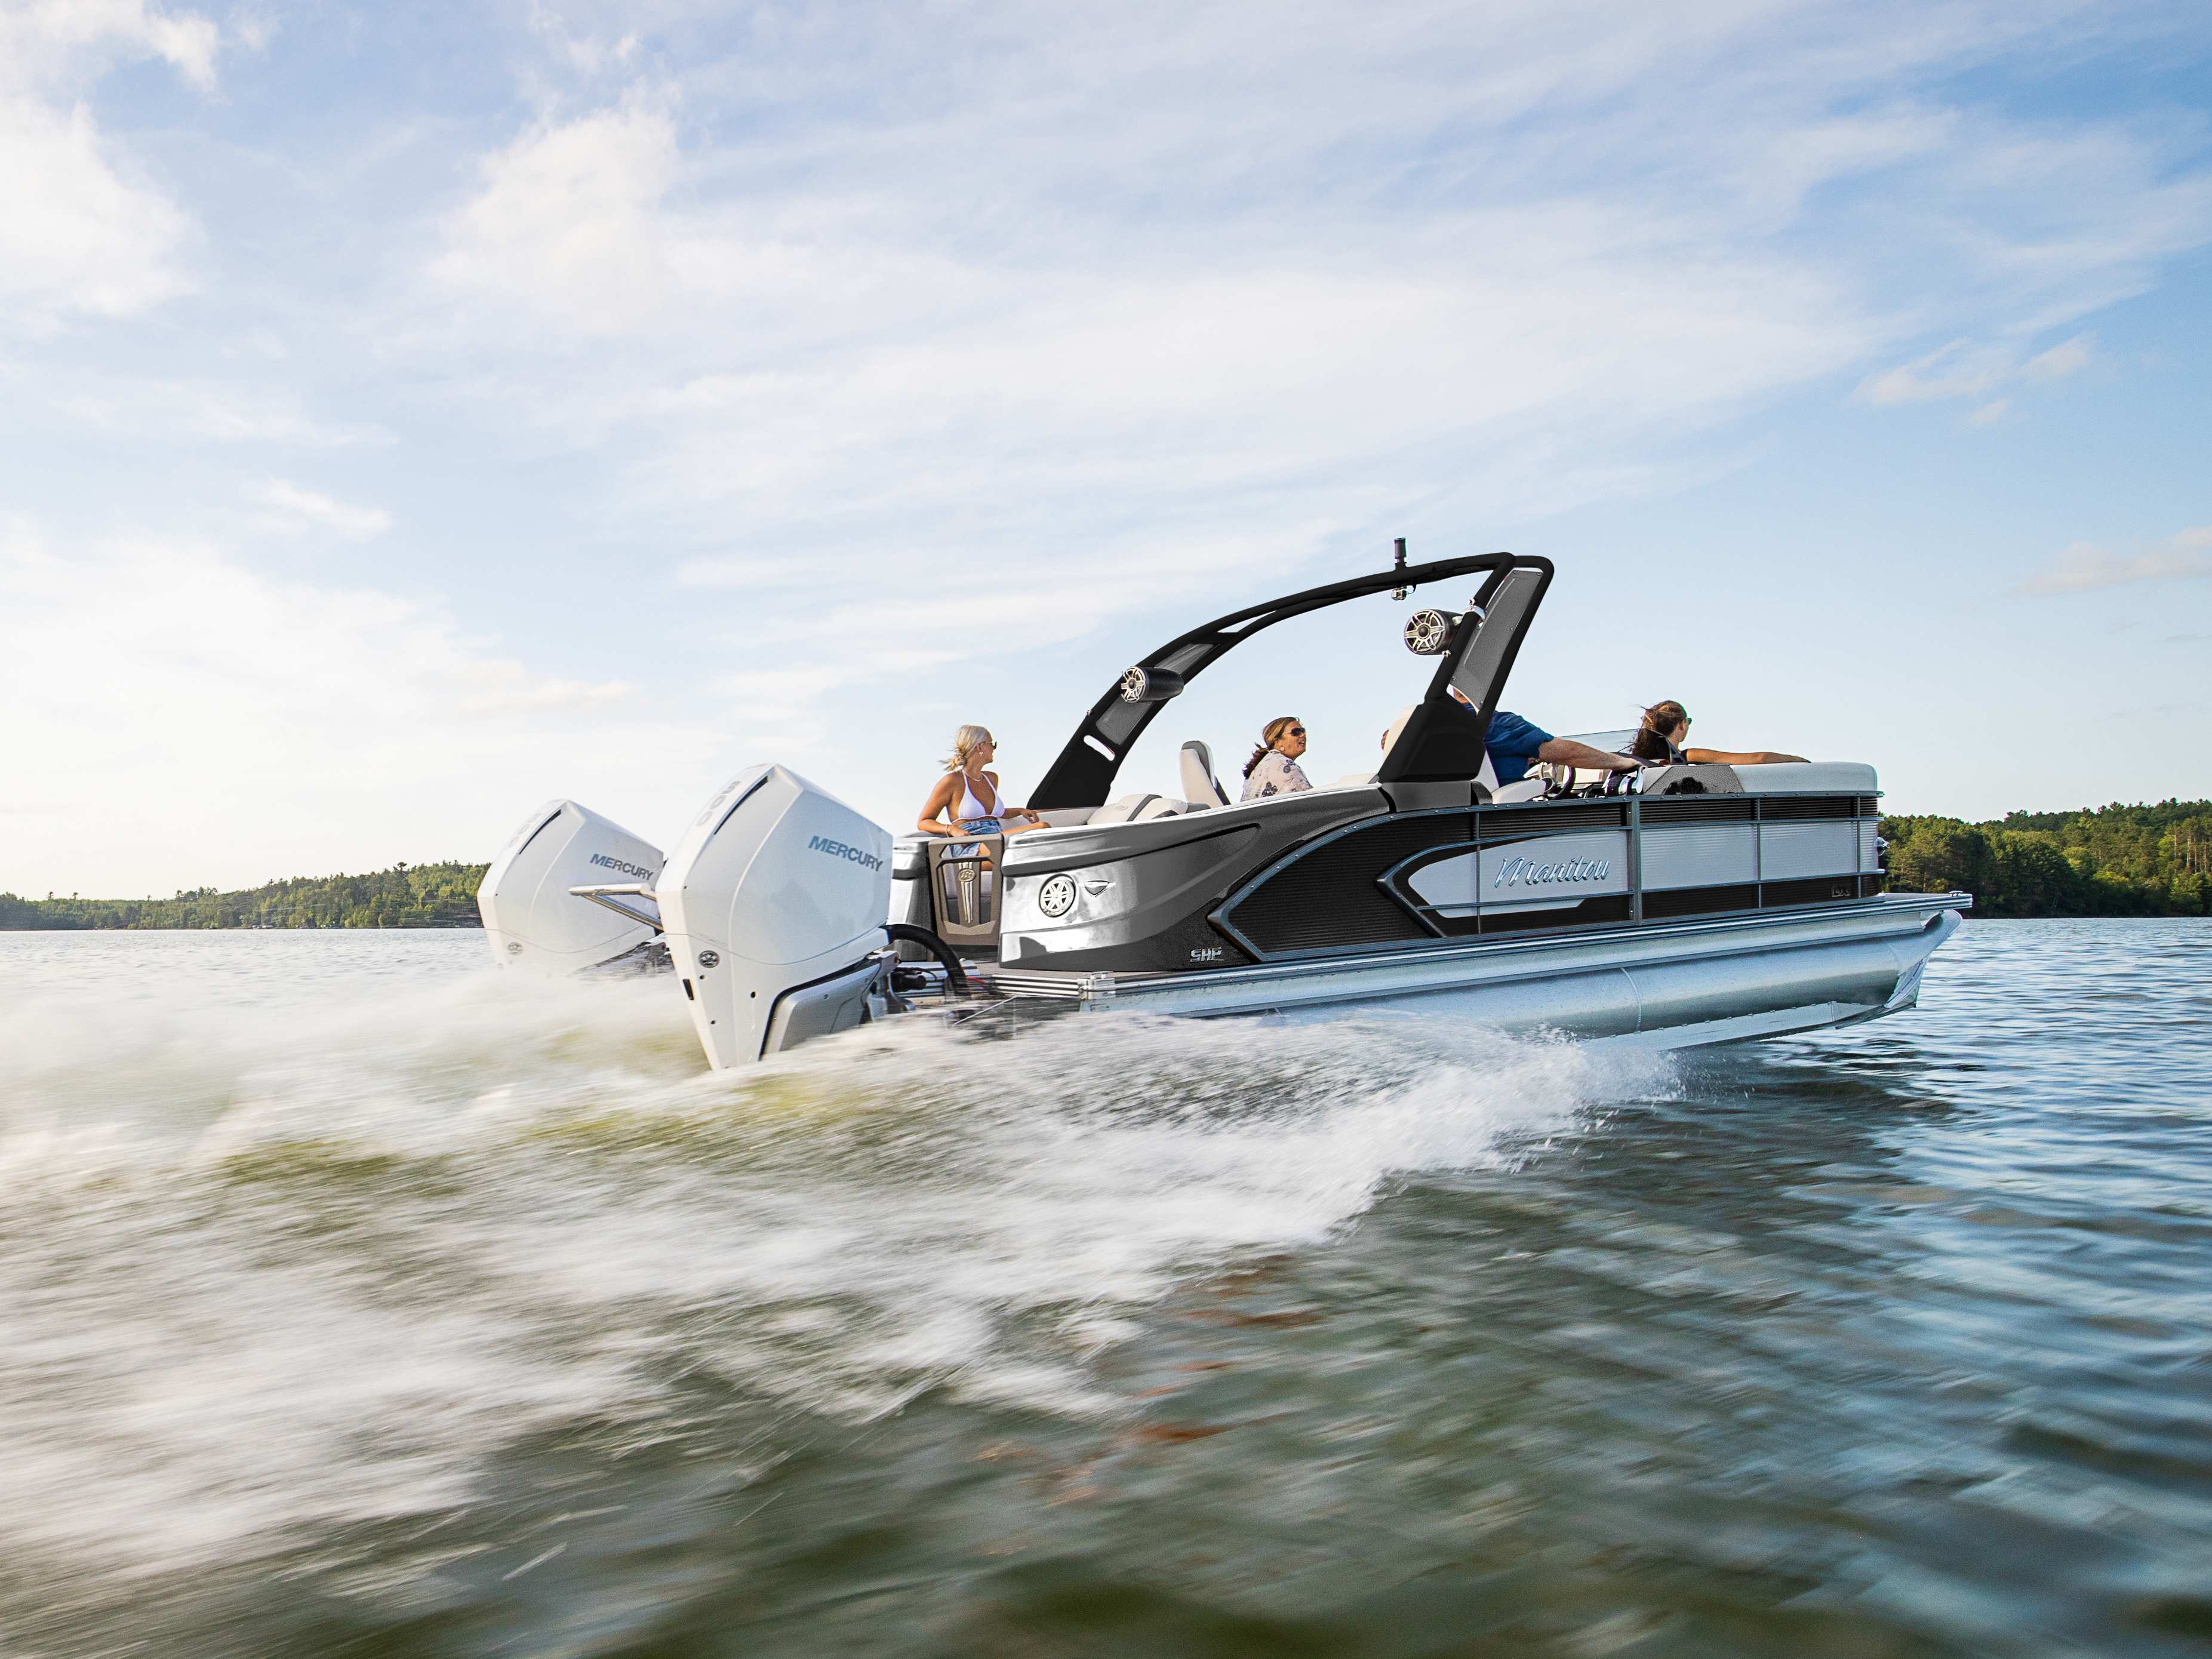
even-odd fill
[{"label": "whole lake surface, foamy wake and dark rippled water included", "polygon": [[743,1077],[480,933],[0,933],[9,1659],[2208,1648],[2205,922]]}]

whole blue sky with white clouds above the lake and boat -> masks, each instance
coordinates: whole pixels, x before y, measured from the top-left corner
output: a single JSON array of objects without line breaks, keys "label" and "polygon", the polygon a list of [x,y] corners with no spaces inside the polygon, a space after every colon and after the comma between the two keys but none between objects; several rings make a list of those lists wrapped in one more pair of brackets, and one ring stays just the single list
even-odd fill
[{"label": "whole blue sky with white clouds above the lake and boat", "polygon": [[[2212,11],[0,0],[0,889],[905,830],[1398,535],[1555,732],[2212,796]],[[1405,608],[1124,785],[1371,770]]]}]

